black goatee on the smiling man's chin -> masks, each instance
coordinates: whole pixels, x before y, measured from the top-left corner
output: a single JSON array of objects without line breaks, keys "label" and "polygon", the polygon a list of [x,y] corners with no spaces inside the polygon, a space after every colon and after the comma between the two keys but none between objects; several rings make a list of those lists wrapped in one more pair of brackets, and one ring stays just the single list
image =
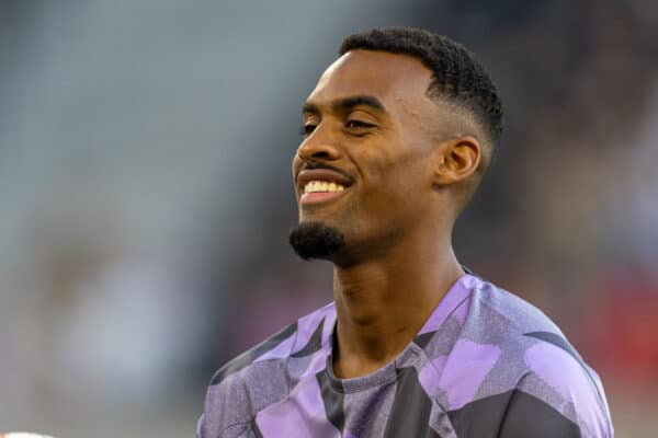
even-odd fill
[{"label": "black goatee on the smiling man's chin", "polygon": [[329,258],[345,245],[343,234],[320,222],[305,222],[291,230],[288,243],[305,261]]}]

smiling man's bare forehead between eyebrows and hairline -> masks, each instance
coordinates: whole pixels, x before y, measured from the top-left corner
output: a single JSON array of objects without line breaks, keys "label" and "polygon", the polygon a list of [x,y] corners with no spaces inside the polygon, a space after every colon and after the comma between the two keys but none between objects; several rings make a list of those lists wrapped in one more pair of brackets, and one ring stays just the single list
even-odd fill
[{"label": "smiling man's bare forehead between eyebrows and hairline", "polygon": [[408,55],[351,50],[322,73],[308,96],[314,104],[351,95],[373,95],[386,107],[405,102],[427,101],[432,72]]}]

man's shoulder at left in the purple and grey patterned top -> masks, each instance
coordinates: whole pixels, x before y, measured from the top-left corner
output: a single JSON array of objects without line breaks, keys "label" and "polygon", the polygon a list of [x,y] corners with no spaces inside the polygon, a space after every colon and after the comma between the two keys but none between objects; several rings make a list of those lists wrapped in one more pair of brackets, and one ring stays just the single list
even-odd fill
[{"label": "man's shoulder at left in the purple and grey patterned top", "polygon": [[198,436],[216,438],[229,428],[249,429],[256,414],[287,396],[300,378],[291,372],[291,360],[304,357],[306,362],[325,364],[334,321],[334,306],[327,304],[219,368],[207,389]]}]

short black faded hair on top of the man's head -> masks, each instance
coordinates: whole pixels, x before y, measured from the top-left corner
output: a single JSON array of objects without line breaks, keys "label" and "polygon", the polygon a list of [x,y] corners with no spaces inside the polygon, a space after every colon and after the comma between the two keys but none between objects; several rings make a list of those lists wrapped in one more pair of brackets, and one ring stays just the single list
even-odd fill
[{"label": "short black faded hair on top of the man's head", "polygon": [[345,37],[339,54],[354,49],[387,51],[419,58],[432,70],[428,94],[473,113],[491,145],[502,134],[502,102],[475,55],[446,36],[416,27],[373,28]]}]

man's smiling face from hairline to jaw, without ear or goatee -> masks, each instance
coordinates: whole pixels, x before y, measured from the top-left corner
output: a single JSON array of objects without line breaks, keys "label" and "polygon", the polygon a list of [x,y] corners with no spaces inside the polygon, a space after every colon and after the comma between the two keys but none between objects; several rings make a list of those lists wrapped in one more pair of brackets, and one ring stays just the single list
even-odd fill
[{"label": "man's smiling face from hairline to jaw, without ear or goatee", "polygon": [[339,231],[342,255],[368,256],[431,219],[430,80],[416,58],[353,50],[308,96],[293,160],[299,223]]}]

